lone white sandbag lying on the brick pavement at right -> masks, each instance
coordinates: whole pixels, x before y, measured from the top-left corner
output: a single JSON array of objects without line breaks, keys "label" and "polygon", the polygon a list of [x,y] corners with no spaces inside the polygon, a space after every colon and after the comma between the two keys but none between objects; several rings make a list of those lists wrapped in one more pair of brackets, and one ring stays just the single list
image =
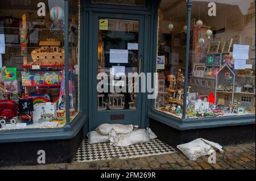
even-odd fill
[{"label": "lone white sandbag lying on the brick pavement at right", "polygon": [[216,142],[197,138],[187,144],[177,145],[177,148],[192,161],[205,155],[212,154],[214,149],[222,150],[222,146]]}]

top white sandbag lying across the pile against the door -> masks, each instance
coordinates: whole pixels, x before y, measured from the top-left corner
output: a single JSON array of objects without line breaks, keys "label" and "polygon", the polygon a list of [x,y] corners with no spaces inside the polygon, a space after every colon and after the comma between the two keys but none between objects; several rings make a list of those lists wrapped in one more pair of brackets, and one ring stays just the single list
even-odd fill
[{"label": "top white sandbag lying across the pile against the door", "polygon": [[117,134],[127,134],[133,131],[134,126],[132,124],[101,124],[100,126],[98,126],[98,128],[96,128],[96,131],[102,135],[109,135],[109,132],[112,129],[114,129],[115,133]]}]

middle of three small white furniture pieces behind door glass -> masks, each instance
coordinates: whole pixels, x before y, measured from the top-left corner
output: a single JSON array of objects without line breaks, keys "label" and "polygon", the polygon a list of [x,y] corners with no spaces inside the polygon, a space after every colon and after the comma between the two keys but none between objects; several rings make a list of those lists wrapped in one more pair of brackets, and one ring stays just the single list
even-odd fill
[{"label": "middle of three small white furniture pieces behind door glass", "polygon": [[123,110],[125,108],[125,95],[123,94],[109,94],[109,109]]}]

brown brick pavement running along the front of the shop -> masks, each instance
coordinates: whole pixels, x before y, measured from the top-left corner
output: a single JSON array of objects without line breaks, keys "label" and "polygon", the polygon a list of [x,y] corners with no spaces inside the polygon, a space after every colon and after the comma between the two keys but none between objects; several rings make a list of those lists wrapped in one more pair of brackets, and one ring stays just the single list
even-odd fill
[{"label": "brown brick pavement running along the front of the shop", "polygon": [[208,157],[191,161],[180,151],[174,154],[155,155],[136,159],[113,159],[87,163],[57,165],[0,167],[1,169],[61,169],[61,170],[255,170],[255,143],[224,146],[224,153],[217,153],[217,162],[209,164]]}]

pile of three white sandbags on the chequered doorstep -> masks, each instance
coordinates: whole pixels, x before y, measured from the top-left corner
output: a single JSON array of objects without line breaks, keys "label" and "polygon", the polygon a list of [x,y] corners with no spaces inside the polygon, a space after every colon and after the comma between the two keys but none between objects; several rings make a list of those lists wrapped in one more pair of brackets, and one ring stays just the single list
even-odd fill
[{"label": "pile of three white sandbags on the chequered doorstep", "polygon": [[89,144],[110,142],[115,146],[130,146],[150,142],[157,136],[150,128],[138,129],[138,126],[123,124],[102,124],[96,131],[87,134]]}]

